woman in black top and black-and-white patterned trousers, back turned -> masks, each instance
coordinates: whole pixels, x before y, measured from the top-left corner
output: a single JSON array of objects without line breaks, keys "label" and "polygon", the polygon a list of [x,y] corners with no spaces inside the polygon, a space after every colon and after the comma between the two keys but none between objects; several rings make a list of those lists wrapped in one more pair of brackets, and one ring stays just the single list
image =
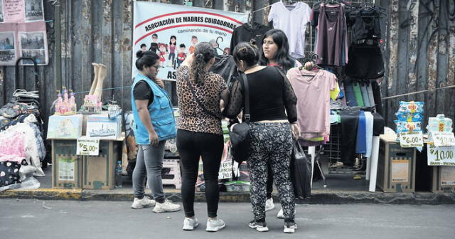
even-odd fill
[{"label": "woman in black top and black-and-white patterned trousers, back turned", "polygon": [[[297,98],[291,83],[277,68],[259,66],[257,48],[250,43],[240,43],[234,49],[234,59],[244,72],[250,90],[251,144],[247,164],[251,177],[251,202],[255,220],[250,228],[267,231],[265,201],[267,162],[274,171],[279,199],[284,211],[284,232],[294,233],[295,197],[289,176],[292,151],[292,135],[299,134],[296,125]],[[244,107],[242,76],[232,87],[230,101],[224,113],[235,119]],[[287,115],[286,115],[286,112]]]}]

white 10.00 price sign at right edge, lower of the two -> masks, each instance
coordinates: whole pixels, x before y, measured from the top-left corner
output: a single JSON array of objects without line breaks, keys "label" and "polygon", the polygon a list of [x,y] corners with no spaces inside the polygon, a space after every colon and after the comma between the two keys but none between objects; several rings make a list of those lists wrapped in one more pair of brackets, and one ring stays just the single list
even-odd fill
[{"label": "white 10.00 price sign at right edge, lower of the two", "polygon": [[429,166],[455,166],[455,146],[427,144],[427,158]]}]

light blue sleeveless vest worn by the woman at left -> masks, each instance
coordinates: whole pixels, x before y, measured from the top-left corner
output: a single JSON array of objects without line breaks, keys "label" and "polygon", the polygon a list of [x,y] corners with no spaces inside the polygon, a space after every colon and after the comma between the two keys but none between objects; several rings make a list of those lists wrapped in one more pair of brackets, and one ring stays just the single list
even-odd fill
[{"label": "light blue sleeveless vest worn by the woman at left", "polygon": [[173,109],[168,92],[156,85],[153,80],[150,80],[146,76],[141,75],[141,73],[138,73],[136,78],[134,78],[134,83],[131,89],[131,106],[135,122],[133,131],[137,144],[150,144],[149,132],[147,132],[146,127],[141,122],[133,94],[134,87],[141,80],[144,80],[147,84],[149,84],[151,90],[154,92],[154,102],[149,105],[148,110],[150,113],[151,124],[154,126],[156,134],[158,134],[159,141],[175,138],[177,135],[176,120],[173,117]]}]

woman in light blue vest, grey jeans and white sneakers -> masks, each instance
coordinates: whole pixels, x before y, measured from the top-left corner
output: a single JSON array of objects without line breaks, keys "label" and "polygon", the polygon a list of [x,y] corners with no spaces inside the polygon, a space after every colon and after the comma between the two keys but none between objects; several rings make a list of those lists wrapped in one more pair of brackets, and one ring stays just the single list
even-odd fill
[{"label": "woman in light blue vest, grey jeans and white sneakers", "polygon": [[[131,91],[134,115],[134,137],[139,145],[136,166],[133,171],[134,202],[132,208],[155,206],[155,213],[179,211],[180,205],[164,197],[161,169],[163,168],[166,139],[176,137],[176,123],[171,100],[164,90],[159,72],[159,56],[151,51],[136,53],[139,70]],[[145,179],[149,183],[154,200],[144,196]]]}]

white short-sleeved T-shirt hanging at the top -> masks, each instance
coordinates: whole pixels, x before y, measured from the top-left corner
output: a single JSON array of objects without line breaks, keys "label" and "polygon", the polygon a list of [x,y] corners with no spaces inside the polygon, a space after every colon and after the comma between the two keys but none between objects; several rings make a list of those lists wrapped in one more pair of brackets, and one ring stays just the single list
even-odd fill
[{"label": "white short-sleeved T-shirt hanging at the top", "polygon": [[305,31],[306,24],[310,21],[311,8],[301,1],[292,6],[294,9],[287,9],[282,1],[272,4],[268,20],[273,21],[273,28],[280,29],[286,34],[291,56],[304,58]]}]

